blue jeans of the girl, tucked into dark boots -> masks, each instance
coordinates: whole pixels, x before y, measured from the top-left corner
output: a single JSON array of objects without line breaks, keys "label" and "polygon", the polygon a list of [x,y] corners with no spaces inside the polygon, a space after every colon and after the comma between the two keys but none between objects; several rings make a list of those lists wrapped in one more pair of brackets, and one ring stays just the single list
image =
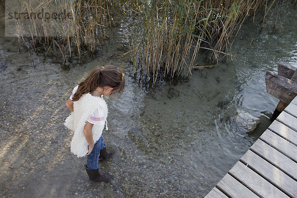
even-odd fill
[{"label": "blue jeans of the girl, tucked into dark boots", "polygon": [[95,143],[92,152],[87,155],[87,168],[89,169],[98,169],[98,159],[100,155],[100,150],[105,148],[106,144],[103,142],[103,136]]}]

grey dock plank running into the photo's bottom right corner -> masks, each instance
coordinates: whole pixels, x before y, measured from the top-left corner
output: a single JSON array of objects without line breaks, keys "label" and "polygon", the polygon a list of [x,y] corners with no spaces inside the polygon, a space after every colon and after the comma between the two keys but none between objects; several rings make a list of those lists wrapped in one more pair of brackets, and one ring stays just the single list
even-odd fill
[{"label": "grey dock plank running into the photo's bottom right corner", "polygon": [[286,192],[293,198],[297,198],[297,182],[265,159],[251,150],[247,150],[241,160],[247,163],[248,167],[256,170],[266,180],[282,189],[283,192]]}]

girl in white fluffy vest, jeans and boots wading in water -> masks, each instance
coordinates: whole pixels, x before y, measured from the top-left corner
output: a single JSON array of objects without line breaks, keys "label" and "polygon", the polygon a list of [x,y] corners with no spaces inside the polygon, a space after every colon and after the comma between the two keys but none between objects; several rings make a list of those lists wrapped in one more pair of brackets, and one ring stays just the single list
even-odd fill
[{"label": "girl in white fluffy vest, jeans and boots wading in water", "polygon": [[[71,152],[77,157],[87,155],[86,171],[90,180],[108,182],[109,174],[99,172],[98,160],[112,154],[106,150],[102,131],[106,122],[107,104],[102,98],[115,92],[122,93],[125,86],[124,74],[114,65],[103,69],[94,69],[90,75],[73,89],[71,97],[66,101],[72,112],[64,125],[74,132],[71,141]],[[100,158],[99,158],[100,156]]]}]

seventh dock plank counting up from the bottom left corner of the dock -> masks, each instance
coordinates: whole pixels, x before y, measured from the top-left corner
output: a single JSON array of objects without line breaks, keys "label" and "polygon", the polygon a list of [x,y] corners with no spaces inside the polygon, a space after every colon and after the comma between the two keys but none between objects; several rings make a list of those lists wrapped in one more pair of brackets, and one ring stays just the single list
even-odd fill
[{"label": "seventh dock plank counting up from the bottom left corner of the dock", "polygon": [[268,129],[297,145],[297,132],[279,121],[273,121]]}]

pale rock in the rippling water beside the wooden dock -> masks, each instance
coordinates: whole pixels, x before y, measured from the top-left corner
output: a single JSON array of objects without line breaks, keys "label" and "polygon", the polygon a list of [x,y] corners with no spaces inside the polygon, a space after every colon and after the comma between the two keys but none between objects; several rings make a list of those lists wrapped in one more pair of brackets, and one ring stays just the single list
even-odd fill
[{"label": "pale rock in the rippling water beside the wooden dock", "polygon": [[260,119],[251,115],[247,111],[237,109],[237,116],[235,118],[235,124],[247,133],[251,133],[255,130],[260,123]]}]

